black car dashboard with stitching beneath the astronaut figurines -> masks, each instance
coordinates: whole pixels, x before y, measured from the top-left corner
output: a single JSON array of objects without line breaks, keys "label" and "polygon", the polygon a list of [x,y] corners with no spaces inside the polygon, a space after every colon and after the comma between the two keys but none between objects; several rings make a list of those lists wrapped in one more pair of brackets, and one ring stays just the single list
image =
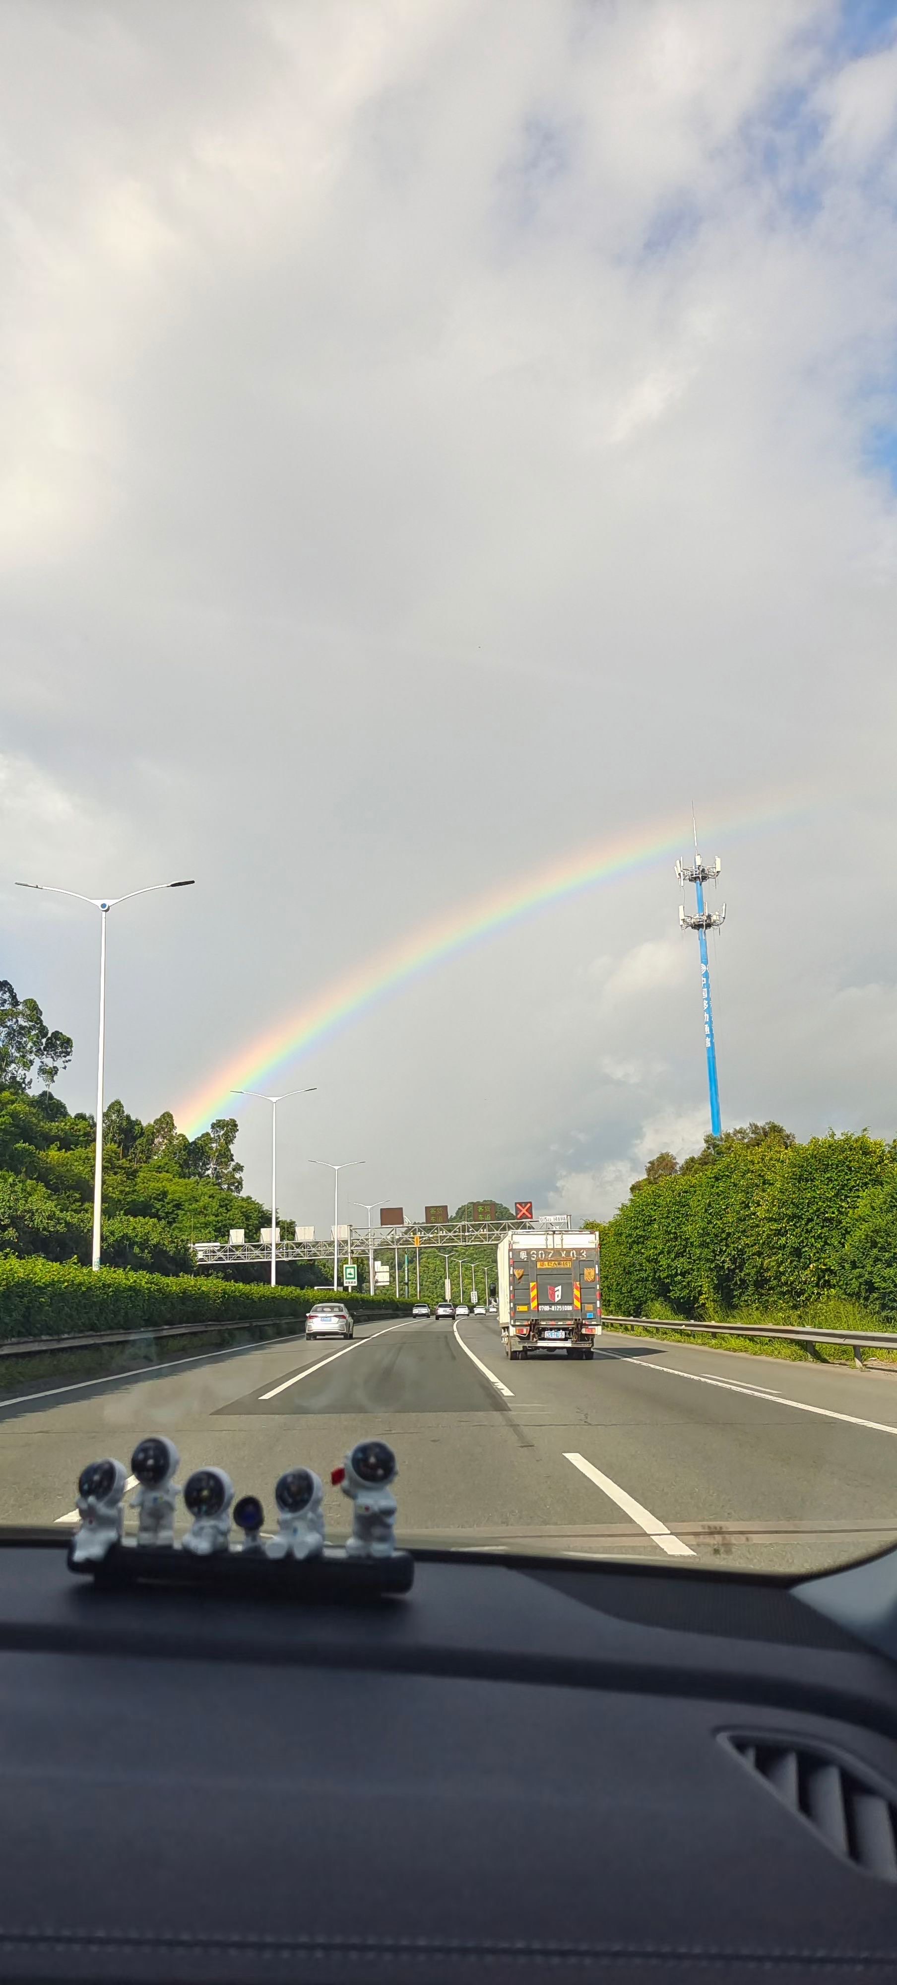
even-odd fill
[{"label": "black car dashboard with stitching beneath the astronaut figurines", "polygon": [[776,1580],[415,1558],[278,1604],[4,1542],[0,1981],[897,1977],[881,1650]]}]

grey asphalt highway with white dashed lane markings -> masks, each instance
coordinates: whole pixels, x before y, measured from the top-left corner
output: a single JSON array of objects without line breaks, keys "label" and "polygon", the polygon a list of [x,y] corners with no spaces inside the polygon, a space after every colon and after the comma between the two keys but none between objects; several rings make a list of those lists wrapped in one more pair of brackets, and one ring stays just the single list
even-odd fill
[{"label": "grey asphalt highway with white dashed lane markings", "polygon": [[0,1403],[0,1522],[71,1522],[105,1453],[167,1433],[181,1481],[256,1491],[329,1471],[363,1435],[399,1457],[399,1534],[490,1550],[808,1570],[897,1540],[897,1376],[599,1340],[591,1364],[508,1362],[494,1318],[377,1320],[343,1346],[280,1338]]}]

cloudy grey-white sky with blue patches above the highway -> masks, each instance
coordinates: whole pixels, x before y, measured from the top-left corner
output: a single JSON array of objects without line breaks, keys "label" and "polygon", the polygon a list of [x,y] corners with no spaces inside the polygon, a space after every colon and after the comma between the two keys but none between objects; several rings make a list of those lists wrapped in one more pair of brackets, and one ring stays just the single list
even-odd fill
[{"label": "cloudy grey-white sky with blue patches above the highway", "polygon": [[[0,0],[4,967],[278,1203],[609,1215],[708,1127],[897,1133],[897,4]],[[657,832],[655,832],[657,830]],[[270,1191],[268,1106],[234,1098]],[[357,1195],[357,1201],[355,1201]]]}]

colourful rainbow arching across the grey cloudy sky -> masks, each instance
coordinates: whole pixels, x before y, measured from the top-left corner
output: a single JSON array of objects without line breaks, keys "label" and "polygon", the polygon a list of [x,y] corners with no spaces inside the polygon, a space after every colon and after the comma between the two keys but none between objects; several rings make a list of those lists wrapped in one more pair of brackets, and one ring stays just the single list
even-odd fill
[{"label": "colourful rainbow arching across the grey cloudy sky", "polygon": [[[746,832],[778,826],[792,818],[800,806],[754,804],[750,812],[716,818],[716,830]],[[714,832],[716,832],[714,830]],[[191,1137],[216,1116],[234,1110],[234,1090],[254,1090],[270,1084],[274,1072],[284,1062],[300,1062],[314,1048],[359,1020],[381,1000],[399,992],[411,981],[421,979],[445,959],[468,951],[488,937],[498,937],[514,923],[534,917],[540,909],[564,903],[572,895],[597,889],[601,883],[617,881],[651,863],[669,860],[689,850],[691,834],[683,832],[683,820],[653,824],[641,834],[621,834],[564,856],[560,861],[538,869],[514,883],[474,897],[462,907],[433,917],[433,921],[409,931],[385,951],[375,953],[361,965],[353,965],[339,979],[333,979],[320,992],[298,1006],[288,1018],[266,1028],[250,1046],[228,1056],[192,1094],[185,1096],[175,1120],[185,1125]]]}]

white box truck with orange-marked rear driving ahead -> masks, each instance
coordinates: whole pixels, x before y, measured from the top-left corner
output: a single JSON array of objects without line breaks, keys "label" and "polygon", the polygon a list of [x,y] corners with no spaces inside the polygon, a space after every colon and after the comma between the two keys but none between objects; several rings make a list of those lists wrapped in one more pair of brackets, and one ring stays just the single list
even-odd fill
[{"label": "white box truck with orange-marked rear driving ahead", "polygon": [[518,1227],[498,1245],[498,1324],[508,1358],[591,1358],[601,1336],[597,1235]]}]

